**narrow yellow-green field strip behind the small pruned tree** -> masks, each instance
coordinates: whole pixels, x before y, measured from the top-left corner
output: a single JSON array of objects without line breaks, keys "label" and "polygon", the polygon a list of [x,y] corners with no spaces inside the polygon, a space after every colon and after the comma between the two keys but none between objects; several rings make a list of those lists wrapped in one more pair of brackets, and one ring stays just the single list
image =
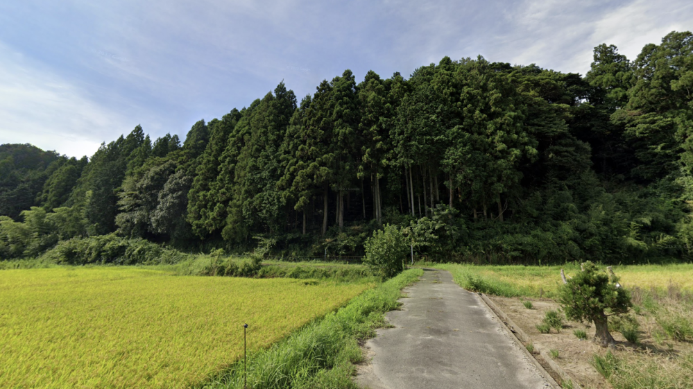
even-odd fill
[{"label": "narrow yellow-green field strip behind the small pruned tree", "polygon": [[[561,269],[565,270],[568,277],[580,271],[579,265],[572,263],[564,266],[477,266],[452,263],[434,266],[450,271],[455,282],[465,288],[470,287],[470,282],[479,282],[482,288],[490,288],[488,293],[506,297],[539,297],[540,294],[544,297],[554,297],[562,283]],[[654,288],[663,291],[671,284],[683,291],[693,292],[692,263],[612,268],[620,277],[620,283],[628,288],[638,286],[646,290]]]}]

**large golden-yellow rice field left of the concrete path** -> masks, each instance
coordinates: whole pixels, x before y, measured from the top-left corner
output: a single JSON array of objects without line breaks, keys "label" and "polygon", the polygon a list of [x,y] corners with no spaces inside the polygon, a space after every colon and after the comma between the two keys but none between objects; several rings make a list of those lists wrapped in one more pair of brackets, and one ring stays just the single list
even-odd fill
[{"label": "large golden-yellow rice field left of the concrete path", "polygon": [[185,388],[368,285],[135,268],[0,272],[0,388]]}]

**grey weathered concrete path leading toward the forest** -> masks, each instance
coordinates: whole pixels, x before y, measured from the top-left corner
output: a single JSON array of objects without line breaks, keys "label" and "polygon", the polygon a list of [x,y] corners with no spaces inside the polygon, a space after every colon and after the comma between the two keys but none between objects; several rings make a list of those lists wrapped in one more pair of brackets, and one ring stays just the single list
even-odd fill
[{"label": "grey weathered concrete path leading toward the forest", "polygon": [[404,289],[394,328],[379,329],[366,347],[372,360],[357,376],[370,389],[551,388],[474,293],[444,270],[425,270]]}]

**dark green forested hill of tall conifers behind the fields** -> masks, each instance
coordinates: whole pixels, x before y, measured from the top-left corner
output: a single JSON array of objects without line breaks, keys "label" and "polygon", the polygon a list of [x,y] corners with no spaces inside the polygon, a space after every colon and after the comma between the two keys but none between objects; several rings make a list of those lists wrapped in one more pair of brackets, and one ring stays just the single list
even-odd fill
[{"label": "dark green forested hill of tall conifers behind the fields", "polygon": [[300,102],[280,83],[182,144],[137,126],[88,163],[0,146],[0,255],[112,233],[349,255],[390,223],[436,260],[687,259],[691,132],[689,32],[635,60],[597,46],[584,77],[481,57],[346,70]]}]

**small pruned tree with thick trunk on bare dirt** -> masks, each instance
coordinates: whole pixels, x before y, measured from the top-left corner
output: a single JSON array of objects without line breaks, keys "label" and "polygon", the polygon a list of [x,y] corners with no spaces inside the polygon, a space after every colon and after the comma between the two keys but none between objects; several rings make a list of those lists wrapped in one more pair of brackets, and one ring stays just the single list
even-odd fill
[{"label": "small pruned tree with thick trunk on bare dirt", "polygon": [[597,265],[587,261],[582,270],[572,278],[566,278],[563,269],[563,287],[558,292],[558,302],[567,318],[594,322],[596,334],[592,341],[602,347],[614,345],[609,333],[608,317],[622,315],[631,308],[631,295],[618,283],[618,277],[608,268],[607,274]]}]

